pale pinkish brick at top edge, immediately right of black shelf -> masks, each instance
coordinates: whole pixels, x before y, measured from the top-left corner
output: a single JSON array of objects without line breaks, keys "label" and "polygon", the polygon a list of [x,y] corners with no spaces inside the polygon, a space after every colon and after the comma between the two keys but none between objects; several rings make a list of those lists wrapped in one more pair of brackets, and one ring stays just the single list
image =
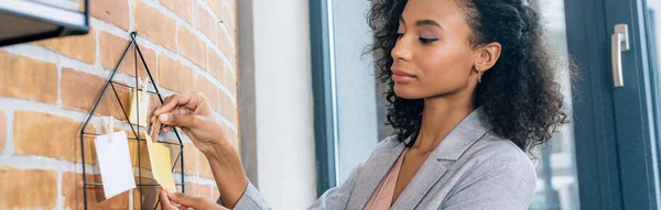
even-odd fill
[{"label": "pale pinkish brick at top edge, immediately right of black shelf", "polygon": [[130,14],[127,0],[94,1],[89,4],[94,18],[129,31]]}]

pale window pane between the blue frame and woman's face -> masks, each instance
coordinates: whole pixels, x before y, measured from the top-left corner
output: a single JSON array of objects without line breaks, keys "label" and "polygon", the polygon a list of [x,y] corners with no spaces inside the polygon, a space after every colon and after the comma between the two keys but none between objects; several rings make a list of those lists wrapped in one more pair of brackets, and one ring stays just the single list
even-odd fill
[{"label": "pale window pane between the blue frame and woman's face", "polygon": [[349,173],[367,161],[378,143],[376,79],[366,15],[371,1],[332,0],[333,53],[337,109],[337,177],[344,183]]}]

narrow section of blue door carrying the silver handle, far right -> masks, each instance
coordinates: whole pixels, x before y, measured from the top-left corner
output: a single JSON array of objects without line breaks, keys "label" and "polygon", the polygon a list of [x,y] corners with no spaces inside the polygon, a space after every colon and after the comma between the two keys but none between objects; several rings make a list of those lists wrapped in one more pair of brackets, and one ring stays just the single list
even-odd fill
[{"label": "narrow section of blue door carrying the silver handle, far right", "polygon": [[632,209],[660,208],[657,131],[661,121],[654,113],[661,103],[655,101],[659,74],[651,60],[657,37],[650,27],[654,18],[650,11],[658,4],[658,0],[606,0],[622,205]]}]

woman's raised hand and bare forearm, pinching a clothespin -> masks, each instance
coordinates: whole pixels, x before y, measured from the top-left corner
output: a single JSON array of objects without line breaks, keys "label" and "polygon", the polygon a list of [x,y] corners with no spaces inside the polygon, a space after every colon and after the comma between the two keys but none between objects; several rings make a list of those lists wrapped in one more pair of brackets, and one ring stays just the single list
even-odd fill
[{"label": "woman's raised hand and bare forearm, pinching a clothespin", "polygon": [[[223,203],[234,208],[248,186],[239,153],[225,137],[223,122],[212,110],[204,95],[182,93],[165,98],[151,122],[159,120],[169,132],[181,128],[195,146],[207,157],[214,179],[223,195]],[[178,200],[174,200],[178,202]]]}]

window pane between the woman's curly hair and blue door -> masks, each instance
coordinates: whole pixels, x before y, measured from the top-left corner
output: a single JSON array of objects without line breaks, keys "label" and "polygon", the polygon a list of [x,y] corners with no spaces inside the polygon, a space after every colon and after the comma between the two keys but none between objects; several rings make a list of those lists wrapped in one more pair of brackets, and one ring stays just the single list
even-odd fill
[{"label": "window pane between the woman's curly hair and blue door", "polygon": [[[564,109],[572,117],[572,89],[567,54],[564,1],[535,0],[531,7],[540,11],[550,48],[563,60],[556,78],[564,95]],[[572,119],[570,119],[572,120]],[[537,195],[530,209],[579,209],[576,161],[574,155],[574,125],[567,124],[554,134],[549,146],[537,151]]]}]

